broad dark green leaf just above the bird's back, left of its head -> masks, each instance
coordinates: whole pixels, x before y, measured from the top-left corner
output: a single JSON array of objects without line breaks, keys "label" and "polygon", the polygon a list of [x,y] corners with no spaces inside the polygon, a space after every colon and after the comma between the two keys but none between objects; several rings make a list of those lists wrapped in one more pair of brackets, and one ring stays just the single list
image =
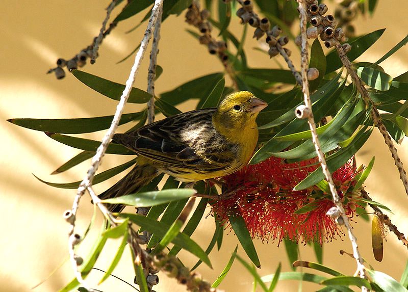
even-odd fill
[{"label": "broad dark green leaf just above the bird's back, left of its head", "polygon": [[[172,105],[179,104],[191,98],[207,98],[215,85],[223,78],[223,73],[213,73],[198,77],[171,91],[160,95],[162,101]],[[214,86],[212,86],[214,85]],[[212,87],[211,87],[212,86]]]}]

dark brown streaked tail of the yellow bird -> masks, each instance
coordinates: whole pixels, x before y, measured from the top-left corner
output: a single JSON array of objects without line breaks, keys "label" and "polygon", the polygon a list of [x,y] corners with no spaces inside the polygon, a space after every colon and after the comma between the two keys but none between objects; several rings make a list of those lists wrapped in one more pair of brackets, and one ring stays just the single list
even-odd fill
[{"label": "dark brown streaked tail of the yellow bird", "polygon": [[[111,188],[99,195],[101,200],[111,199],[138,192],[144,185],[159,175],[159,171],[147,158],[139,156],[135,167]],[[120,212],[121,204],[109,204],[111,212]]]}]

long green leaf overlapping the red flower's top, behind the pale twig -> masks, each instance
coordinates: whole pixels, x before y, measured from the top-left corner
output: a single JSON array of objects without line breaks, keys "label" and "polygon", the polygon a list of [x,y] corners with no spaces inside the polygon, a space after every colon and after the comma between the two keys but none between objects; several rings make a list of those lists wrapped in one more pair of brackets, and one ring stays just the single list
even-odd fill
[{"label": "long green leaf overlapping the red flower's top, behind the pale twig", "polygon": [[[353,142],[345,148],[340,149],[334,154],[329,155],[326,158],[327,167],[330,173],[333,173],[345,163],[347,163],[350,158],[364,145],[368,140],[372,132],[372,128],[366,132],[363,132],[356,137]],[[318,183],[324,178],[321,167],[316,169],[314,172],[309,174],[305,179],[299,182],[294,190],[300,191],[311,187],[312,185]]]}]

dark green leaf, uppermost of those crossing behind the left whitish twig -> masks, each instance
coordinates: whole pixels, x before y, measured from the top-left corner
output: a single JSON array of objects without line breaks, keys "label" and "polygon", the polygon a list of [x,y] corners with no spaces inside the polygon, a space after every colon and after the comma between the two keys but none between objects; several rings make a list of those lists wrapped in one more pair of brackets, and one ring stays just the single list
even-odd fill
[{"label": "dark green leaf, uppermost of those crossing behind the left whitish twig", "polygon": [[[125,88],[125,86],[122,84],[109,81],[108,79],[104,79],[84,71],[72,70],[71,73],[86,86],[114,100],[120,100],[120,96]],[[134,87],[132,88],[127,102],[145,103],[150,99],[150,97],[151,95],[147,92]]]}]

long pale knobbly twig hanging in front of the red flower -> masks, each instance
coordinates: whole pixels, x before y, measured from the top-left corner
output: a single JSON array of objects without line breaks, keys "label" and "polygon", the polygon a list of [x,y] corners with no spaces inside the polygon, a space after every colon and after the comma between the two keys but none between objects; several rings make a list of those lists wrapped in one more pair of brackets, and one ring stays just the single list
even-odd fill
[{"label": "long pale knobbly twig hanging in front of the red flower", "polygon": [[[313,112],[312,112],[312,102],[310,100],[309,81],[307,77],[308,66],[309,66],[308,65],[309,64],[308,37],[306,33],[308,12],[306,9],[305,0],[298,0],[297,2],[299,4],[298,9],[300,13],[302,91],[303,91],[304,103],[305,103],[305,106],[308,112],[307,118],[308,118],[310,130],[312,133],[312,142],[315,145],[316,153],[319,158],[319,162],[322,167],[323,174],[328,182],[331,195],[333,196],[333,201],[336,204],[336,207],[338,210],[338,215],[339,217],[343,219],[342,221],[344,221],[344,225],[347,228],[348,236],[350,238],[351,245],[353,248],[353,255],[357,262],[357,271],[361,278],[365,278],[366,275],[365,275],[364,260],[360,255],[359,246],[357,245],[357,239],[352,231],[348,218],[345,215],[343,204],[340,200],[339,195],[337,194],[337,190],[333,182],[333,178],[331,177],[330,171],[328,170],[326,159],[324,157],[323,151],[320,148],[320,142],[317,136],[316,124],[315,124]],[[367,288],[362,287],[362,290],[367,291]]]}]

